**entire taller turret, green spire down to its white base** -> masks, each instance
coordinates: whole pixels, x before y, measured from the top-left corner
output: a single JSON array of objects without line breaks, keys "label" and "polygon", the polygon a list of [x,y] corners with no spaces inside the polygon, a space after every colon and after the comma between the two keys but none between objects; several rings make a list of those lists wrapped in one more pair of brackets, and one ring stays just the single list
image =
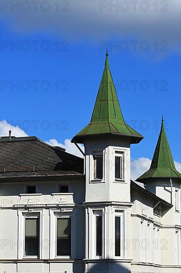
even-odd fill
[{"label": "entire taller turret, green spire down to its white base", "polygon": [[131,236],[130,144],[142,138],[124,121],[106,53],[90,123],[72,139],[85,146],[86,272],[115,272],[111,259],[130,270],[131,251],[121,242]]}]

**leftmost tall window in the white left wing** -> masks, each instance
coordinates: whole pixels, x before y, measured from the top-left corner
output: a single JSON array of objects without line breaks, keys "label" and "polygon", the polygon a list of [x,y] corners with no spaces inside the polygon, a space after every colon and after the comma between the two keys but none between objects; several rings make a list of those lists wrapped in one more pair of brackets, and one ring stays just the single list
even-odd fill
[{"label": "leftmost tall window in the white left wing", "polygon": [[25,218],[24,256],[39,256],[40,218]]}]

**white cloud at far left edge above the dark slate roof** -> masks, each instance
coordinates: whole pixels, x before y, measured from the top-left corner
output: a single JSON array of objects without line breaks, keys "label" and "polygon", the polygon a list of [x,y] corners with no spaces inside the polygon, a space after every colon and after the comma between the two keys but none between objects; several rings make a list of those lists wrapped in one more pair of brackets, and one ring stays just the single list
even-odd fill
[{"label": "white cloud at far left edge above the dark slate roof", "polygon": [[28,136],[18,126],[12,126],[8,124],[5,120],[0,121],[0,136],[9,136],[9,130],[11,130],[11,136]]}]

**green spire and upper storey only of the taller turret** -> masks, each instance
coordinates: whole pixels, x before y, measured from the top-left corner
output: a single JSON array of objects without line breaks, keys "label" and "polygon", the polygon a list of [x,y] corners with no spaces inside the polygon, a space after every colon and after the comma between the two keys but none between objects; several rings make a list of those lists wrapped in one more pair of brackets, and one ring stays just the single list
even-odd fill
[{"label": "green spire and upper storey only of the taller turret", "polygon": [[124,121],[106,53],[90,123],[72,139],[85,146],[86,201],[130,202],[130,144],[142,138]]}]

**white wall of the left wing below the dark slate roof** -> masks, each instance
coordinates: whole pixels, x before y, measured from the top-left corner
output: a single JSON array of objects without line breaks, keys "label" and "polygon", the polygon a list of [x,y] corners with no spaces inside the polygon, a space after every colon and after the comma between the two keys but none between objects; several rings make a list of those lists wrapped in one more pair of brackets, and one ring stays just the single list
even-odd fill
[{"label": "white wall of the left wing below the dark slate roof", "polygon": [[[26,185],[37,185],[38,194],[25,194]],[[57,193],[69,184],[70,193]],[[0,184],[0,273],[84,272],[85,258],[84,181]],[[28,206],[28,207],[27,207]],[[40,259],[23,257],[24,215],[40,214]],[[55,258],[55,215],[73,217],[71,259]]]}]

